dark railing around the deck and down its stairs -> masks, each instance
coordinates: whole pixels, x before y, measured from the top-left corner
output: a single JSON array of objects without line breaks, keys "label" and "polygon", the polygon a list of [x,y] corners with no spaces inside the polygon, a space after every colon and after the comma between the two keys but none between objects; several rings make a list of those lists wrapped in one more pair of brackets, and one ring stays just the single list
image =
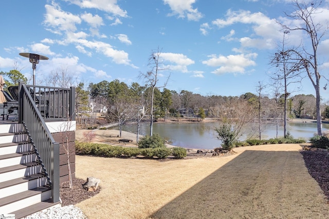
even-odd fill
[{"label": "dark railing around the deck and down its stairs", "polygon": [[54,141],[44,119],[67,121],[74,118],[74,89],[33,87],[20,83],[18,93],[19,123],[24,124],[38,151],[42,166],[50,180],[52,202],[59,202],[60,145]]}]

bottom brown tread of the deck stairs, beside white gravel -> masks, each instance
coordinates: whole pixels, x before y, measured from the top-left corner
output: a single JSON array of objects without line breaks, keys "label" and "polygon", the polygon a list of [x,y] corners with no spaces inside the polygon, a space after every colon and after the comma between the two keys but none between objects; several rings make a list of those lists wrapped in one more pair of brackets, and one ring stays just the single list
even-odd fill
[{"label": "bottom brown tread of the deck stairs, beside white gravel", "polygon": [[56,207],[56,206],[61,206],[61,202],[51,203],[51,199],[48,199],[48,200],[45,200],[38,204],[34,204],[29,207],[11,212],[10,214],[14,214],[15,218],[17,219],[17,218],[22,218],[22,217],[34,214],[36,212],[45,210],[47,208]]}]

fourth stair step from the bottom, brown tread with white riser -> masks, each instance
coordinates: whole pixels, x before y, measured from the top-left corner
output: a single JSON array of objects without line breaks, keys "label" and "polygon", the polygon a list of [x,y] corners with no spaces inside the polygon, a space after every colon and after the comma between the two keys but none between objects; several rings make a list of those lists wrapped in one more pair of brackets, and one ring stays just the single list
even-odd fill
[{"label": "fourth stair step from the bottom, brown tread with white riser", "polygon": [[26,164],[17,164],[9,167],[0,168],[0,183],[13,180],[17,177],[33,175],[41,172],[39,162],[30,162]]}]

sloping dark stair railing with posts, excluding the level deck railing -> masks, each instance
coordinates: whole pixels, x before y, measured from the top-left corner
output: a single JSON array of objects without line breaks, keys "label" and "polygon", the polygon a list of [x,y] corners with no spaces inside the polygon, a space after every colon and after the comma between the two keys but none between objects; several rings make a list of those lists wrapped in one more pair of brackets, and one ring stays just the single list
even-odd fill
[{"label": "sloping dark stair railing with posts, excluding the level deck railing", "polygon": [[24,83],[19,84],[19,123],[24,123],[33,138],[51,183],[51,201],[60,201],[59,143],[55,142]]}]

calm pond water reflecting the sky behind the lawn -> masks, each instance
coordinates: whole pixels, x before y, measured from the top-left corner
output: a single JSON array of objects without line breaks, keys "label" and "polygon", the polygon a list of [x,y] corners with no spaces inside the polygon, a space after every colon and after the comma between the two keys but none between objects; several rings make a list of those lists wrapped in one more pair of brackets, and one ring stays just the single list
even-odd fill
[{"label": "calm pond water reflecting the sky behind the lawn", "polygon": [[[185,124],[171,124],[171,123],[154,123],[153,133],[159,133],[165,138],[169,144],[198,149],[214,149],[221,146],[221,141],[217,139],[217,132],[215,127],[219,127],[219,123],[185,123]],[[118,129],[118,127],[114,128]],[[136,132],[136,125],[125,125],[123,131]],[[323,124],[323,131],[329,130],[329,124]],[[303,138],[308,140],[314,133],[317,132],[316,123],[287,123],[287,131],[295,138]],[[248,128],[240,140],[246,140],[247,137],[254,136],[257,138],[258,130]],[[142,124],[140,127],[141,135],[150,134],[150,124]],[[267,124],[265,130],[262,132],[262,139],[275,138],[277,135],[277,128],[275,124]],[[283,136],[283,127],[278,127],[278,137]]]}]

